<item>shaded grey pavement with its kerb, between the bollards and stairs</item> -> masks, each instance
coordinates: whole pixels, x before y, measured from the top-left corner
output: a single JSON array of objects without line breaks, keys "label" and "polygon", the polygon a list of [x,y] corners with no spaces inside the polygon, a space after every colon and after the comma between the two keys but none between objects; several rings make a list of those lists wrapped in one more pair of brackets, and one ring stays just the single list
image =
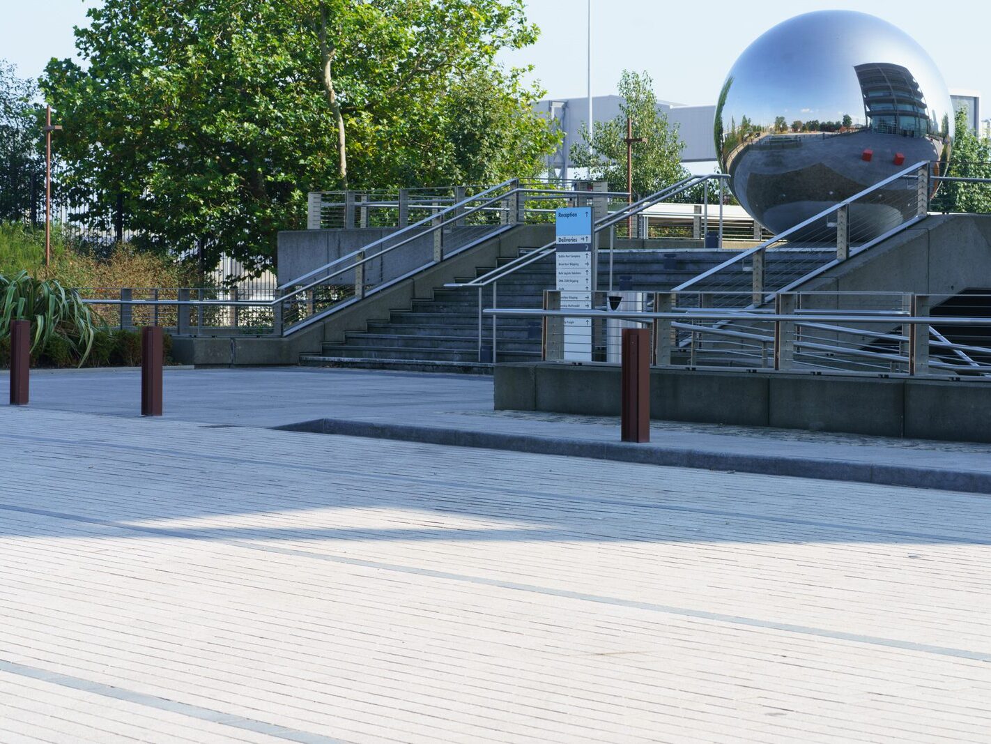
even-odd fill
[{"label": "shaded grey pavement with its kerb, between the bollards and stairs", "polygon": [[[31,406],[132,417],[140,374],[37,372]],[[653,422],[649,443],[628,444],[614,418],[494,411],[488,376],[166,370],[165,418],[991,493],[991,444],[677,422]]]}]

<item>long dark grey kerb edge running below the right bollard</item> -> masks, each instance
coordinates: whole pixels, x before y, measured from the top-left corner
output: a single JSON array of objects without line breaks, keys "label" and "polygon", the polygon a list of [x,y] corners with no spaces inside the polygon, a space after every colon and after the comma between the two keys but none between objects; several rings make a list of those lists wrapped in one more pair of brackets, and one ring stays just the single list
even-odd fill
[{"label": "long dark grey kerb edge running below the right bollard", "polygon": [[[991,494],[991,473],[943,470],[932,467],[826,460],[777,454],[746,454],[643,445],[621,441],[591,441],[531,434],[500,434],[472,430],[363,422],[351,419],[314,419],[275,427],[285,432],[365,436],[425,444],[480,447],[532,454],[557,454],[618,462],[727,470],[760,475],[785,475],[818,480],[842,480],[875,485],[909,486],[944,491]],[[618,429],[616,431],[618,438]]]}]

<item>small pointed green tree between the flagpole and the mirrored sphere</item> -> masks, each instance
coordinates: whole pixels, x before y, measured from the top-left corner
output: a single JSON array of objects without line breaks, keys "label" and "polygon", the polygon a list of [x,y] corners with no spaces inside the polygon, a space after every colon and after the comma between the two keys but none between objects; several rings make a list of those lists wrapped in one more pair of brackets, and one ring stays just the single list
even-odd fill
[{"label": "small pointed green tree between the flagpole and the mirrored sphere", "polygon": [[[633,136],[646,142],[633,145],[633,192],[653,193],[687,175],[681,165],[685,143],[678,127],[668,123],[667,114],[657,109],[653,80],[646,72],[624,70],[618,92],[623,101],[619,115],[611,121],[596,122],[590,137],[587,126],[579,136],[584,142],[572,146],[575,168],[589,170],[597,181],[606,181],[609,190],[626,190],[626,119],[633,124]],[[591,144],[591,147],[590,147]]]}]

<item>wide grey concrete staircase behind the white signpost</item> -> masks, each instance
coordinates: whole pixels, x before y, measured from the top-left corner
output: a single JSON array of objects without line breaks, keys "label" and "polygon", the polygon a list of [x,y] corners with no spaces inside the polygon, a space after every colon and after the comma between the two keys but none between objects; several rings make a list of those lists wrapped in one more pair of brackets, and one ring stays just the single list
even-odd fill
[{"label": "wide grey concrete staircase behind the white signpost", "polygon": [[[532,250],[523,248],[521,252]],[[613,287],[628,277],[630,289],[669,290],[713,268],[727,257],[717,250],[617,250],[613,256]],[[505,263],[509,259],[500,261]],[[608,254],[600,254],[599,286],[608,287]],[[478,267],[476,277],[494,266]],[[462,277],[469,281],[475,277]],[[539,308],[544,290],[554,286],[554,259],[548,257],[499,281],[499,308]],[[493,307],[492,287],[483,292],[484,308]],[[492,346],[492,318],[483,323],[482,343]],[[522,362],[540,358],[541,323],[536,318],[500,318],[496,361]],[[300,363],[312,366],[361,366],[431,371],[489,372],[479,362],[479,296],[474,289],[435,289],[430,298],[414,299],[411,307],[393,310],[387,319],[370,321],[365,331],[349,332],[342,343],[325,343],[320,354],[306,354]],[[491,358],[491,357],[489,357]]]}]

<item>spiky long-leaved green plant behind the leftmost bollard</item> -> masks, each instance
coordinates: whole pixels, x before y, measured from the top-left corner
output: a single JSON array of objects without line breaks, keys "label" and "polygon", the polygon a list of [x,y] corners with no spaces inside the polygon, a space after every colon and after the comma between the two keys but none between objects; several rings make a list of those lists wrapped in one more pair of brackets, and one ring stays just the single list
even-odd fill
[{"label": "spiky long-leaved green plant behind the leftmost bollard", "polygon": [[92,313],[78,292],[55,280],[35,279],[25,271],[10,279],[0,274],[0,341],[10,336],[12,320],[31,321],[32,351],[67,346],[81,367],[93,348]]}]

